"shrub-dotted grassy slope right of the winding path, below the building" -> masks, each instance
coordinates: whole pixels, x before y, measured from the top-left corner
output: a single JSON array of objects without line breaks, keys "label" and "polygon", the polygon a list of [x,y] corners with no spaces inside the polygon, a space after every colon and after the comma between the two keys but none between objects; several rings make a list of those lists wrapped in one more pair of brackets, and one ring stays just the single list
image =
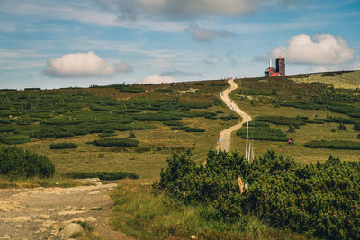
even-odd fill
[{"label": "shrub-dotted grassy slope right of the winding path, below the building", "polygon": [[[353,74],[358,72],[345,73],[338,77]],[[306,77],[312,79],[316,76],[319,75]],[[293,76],[237,80],[242,89],[232,93],[231,97],[251,116],[292,117],[295,119],[293,122],[296,122],[296,118],[307,119],[303,125],[298,126],[299,129],[295,128],[293,133],[287,133],[288,123],[274,124],[274,121],[268,121],[270,127],[281,129],[287,138],[293,138],[294,144],[255,140],[256,156],[262,155],[268,148],[273,148],[284,156],[292,156],[306,164],[324,161],[329,155],[339,156],[344,160],[360,160],[358,150],[304,147],[304,144],[311,140],[350,140],[360,143],[357,138],[360,132],[354,129],[354,123],[360,121],[357,115],[360,110],[360,93],[356,90],[336,89],[329,84],[300,83],[292,79]],[[296,79],[305,78],[296,76]],[[339,129],[340,122],[344,123],[347,130]],[[232,139],[231,149],[243,153],[245,139],[239,138],[235,133]]]}]

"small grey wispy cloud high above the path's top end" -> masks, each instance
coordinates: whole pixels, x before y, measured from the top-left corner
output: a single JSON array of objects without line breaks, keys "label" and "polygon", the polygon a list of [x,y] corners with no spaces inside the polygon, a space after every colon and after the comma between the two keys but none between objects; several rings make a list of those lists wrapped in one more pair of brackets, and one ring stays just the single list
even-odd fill
[{"label": "small grey wispy cloud high above the path's top end", "polygon": [[188,33],[193,40],[200,42],[211,41],[215,38],[227,38],[234,36],[233,33],[223,29],[213,30],[199,26],[197,24],[193,24],[187,27],[184,31]]}]

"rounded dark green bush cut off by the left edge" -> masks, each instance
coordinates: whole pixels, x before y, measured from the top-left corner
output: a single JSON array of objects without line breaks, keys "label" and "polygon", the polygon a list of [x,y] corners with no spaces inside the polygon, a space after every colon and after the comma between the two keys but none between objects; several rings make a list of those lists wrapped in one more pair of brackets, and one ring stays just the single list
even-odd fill
[{"label": "rounded dark green bush cut off by the left edge", "polygon": [[41,156],[18,147],[0,148],[0,174],[11,177],[48,178],[55,166],[46,156]]}]

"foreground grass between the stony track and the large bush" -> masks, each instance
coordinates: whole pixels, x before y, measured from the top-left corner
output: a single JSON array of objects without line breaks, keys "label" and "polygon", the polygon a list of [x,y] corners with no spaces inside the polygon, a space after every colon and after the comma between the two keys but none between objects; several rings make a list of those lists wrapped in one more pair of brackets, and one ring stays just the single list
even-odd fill
[{"label": "foreground grass between the stony track and the large bush", "polygon": [[112,200],[112,226],[138,239],[304,239],[251,216],[225,222],[214,218],[211,208],[185,206],[138,182],[122,182]]}]

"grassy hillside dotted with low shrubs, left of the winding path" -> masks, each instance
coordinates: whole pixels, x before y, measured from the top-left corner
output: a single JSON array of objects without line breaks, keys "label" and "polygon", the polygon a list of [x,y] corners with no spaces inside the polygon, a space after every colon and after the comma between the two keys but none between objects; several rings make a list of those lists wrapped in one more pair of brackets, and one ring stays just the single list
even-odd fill
[{"label": "grassy hillside dotted with low shrubs, left of the winding path", "polygon": [[[193,148],[195,156],[205,159],[220,130],[237,122],[226,120],[231,112],[218,99],[227,85],[225,81],[208,81],[125,89],[114,85],[1,91],[0,146],[14,143],[48,156],[56,166],[56,177],[69,172],[125,171],[139,174],[140,179],[158,179],[172,151]],[[101,136],[128,138],[130,133],[139,147],[87,144]],[[8,138],[15,138],[15,142]],[[50,148],[63,142],[78,147]]]}]

